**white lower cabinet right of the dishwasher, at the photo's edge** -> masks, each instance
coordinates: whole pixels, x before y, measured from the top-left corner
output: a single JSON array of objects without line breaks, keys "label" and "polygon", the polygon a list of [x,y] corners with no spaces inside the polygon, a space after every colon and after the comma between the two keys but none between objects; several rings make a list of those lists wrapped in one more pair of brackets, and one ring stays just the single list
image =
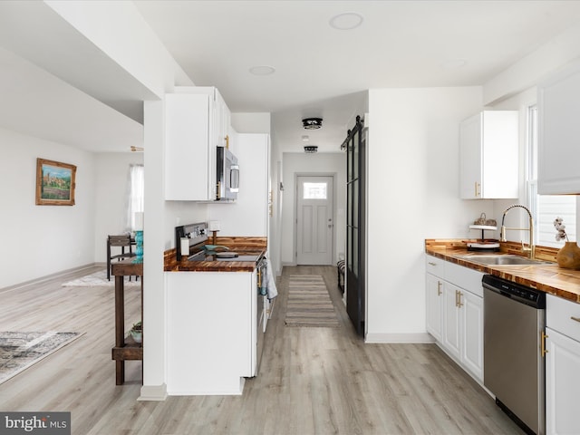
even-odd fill
[{"label": "white lower cabinet right of the dishwasher, at the photo's edge", "polygon": [[546,433],[578,434],[580,304],[546,295],[546,335]]}]

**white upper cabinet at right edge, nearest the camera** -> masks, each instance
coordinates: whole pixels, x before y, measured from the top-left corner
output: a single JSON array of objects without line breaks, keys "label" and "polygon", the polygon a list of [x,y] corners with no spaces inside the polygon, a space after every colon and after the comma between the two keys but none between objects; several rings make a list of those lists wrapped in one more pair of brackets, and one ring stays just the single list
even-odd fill
[{"label": "white upper cabinet at right edge, nearest the camera", "polygon": [[537,86],[537,191],[580,193],[580,62]]}]

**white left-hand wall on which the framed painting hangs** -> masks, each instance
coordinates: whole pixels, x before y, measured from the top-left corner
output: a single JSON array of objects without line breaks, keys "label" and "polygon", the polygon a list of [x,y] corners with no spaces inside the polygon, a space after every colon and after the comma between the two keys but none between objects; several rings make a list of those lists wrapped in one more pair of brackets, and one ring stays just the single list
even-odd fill
[{"label": "white left-hand wall on which the framed painting hangs", "polygon": [[[36,206],[36,158],[73,164],[74,206]],[[0,288],[94,261],[92,153],[0,129]]]}]

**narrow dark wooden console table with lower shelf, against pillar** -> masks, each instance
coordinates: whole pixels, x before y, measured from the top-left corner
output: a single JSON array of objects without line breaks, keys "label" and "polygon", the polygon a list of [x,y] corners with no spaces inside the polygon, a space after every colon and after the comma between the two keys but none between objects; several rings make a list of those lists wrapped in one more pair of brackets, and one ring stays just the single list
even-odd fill
[{"label": "narrow dark wooden console table with lower shelf, against pillar", "polygon": [[[125,382],[125,361],[143,360],[142,343],[132,339],[125,340],[125,276],[141,277],[141,320],[143,319],[143,264],[123,260],[111,265],[111,274],[115,277],[115,347],[112,348],[112,359],[116,363],[116,382]],[[142,339],[141,339],[142,342]]]}]

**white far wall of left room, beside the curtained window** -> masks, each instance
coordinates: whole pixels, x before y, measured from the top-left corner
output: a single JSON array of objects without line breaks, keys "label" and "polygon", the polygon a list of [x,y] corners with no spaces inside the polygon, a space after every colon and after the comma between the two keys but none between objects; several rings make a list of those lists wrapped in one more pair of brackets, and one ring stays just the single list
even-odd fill
[{"label": "white far wall of left room, beside the curtained window", "polygon": [[95,161],[94,261],[107,261],[107,236],[125,229],[126,198],[131,164],[143,164],[142,152],[102,152]]}]

